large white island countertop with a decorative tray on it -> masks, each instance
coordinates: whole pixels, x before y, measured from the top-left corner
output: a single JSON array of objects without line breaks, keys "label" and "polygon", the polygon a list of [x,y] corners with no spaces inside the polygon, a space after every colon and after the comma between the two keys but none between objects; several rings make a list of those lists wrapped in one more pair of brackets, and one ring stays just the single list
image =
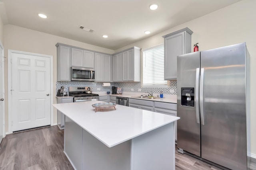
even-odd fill
[{"label": "large white island countertop with a decorative tray on it", "polygon": [[174,122],[179,117],[117,105],[95,112],[92,104],[101,101],[53,104],[59,111],[76,122],[108,147]]}]

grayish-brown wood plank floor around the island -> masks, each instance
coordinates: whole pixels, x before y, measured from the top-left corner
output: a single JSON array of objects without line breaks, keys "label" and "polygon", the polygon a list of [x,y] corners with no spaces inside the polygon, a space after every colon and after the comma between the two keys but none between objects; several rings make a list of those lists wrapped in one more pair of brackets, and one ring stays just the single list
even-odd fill
[{"label": "grayish-brown wood plank floor around the island", "polygon": [[[64,130],[44,127],[6,135],[0,144],[0,170],[73,170],[64,154]],[[220,170],[176,151],[176,170]],[[250,170],[256,170],[251,159]]]}]

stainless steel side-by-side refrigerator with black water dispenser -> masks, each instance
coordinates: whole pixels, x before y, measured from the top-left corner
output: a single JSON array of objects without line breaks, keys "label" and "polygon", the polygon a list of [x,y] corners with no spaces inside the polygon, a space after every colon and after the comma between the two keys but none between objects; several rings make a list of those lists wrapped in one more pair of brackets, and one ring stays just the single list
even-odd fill
[{"label": "stainless steel side-by-side refrigerator with black water dispenser", "polygon": [[246,43],[177,57],[177,147],[232,170],[250,157],[250,55]]}]

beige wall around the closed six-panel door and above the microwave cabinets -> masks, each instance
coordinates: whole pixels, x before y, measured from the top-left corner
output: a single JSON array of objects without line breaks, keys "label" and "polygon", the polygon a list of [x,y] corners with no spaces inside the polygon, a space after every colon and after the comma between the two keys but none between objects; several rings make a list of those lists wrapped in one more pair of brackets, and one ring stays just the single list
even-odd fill
[{"label": "beige wall around the closed six-panel door and above the microwave cabinets", "polygon": [[[4,25],[4,49],[5,56],[8,56],[8,49],[17,51],[26,51],[31,53],[39,53],[45,55],[53,56],[53,80],[54,89],[56,90],[56,80],[57,80],[57,48],[56,43],[63,43],[72,45],[75,47],[81,47],[84,49],[90,49],[94,51],[99,51],[102,53],[113,54],[114,51],[110,49],[105,49],[95,45],[90,45],[86,43],[81,43],[71,39],[66,39],[63,37],[58,37],[55,35],[50,35],[47,33],[42,33],[39,31],[34,31],[31,29],[26,29],[23,27],[18,27],[15,25]],[[8,132],[8,59],[5,61],[5,108],[6,108],[6,132]],[[54,98],[54,103],[56,103],[56,98]],[[57,111],[54,109],[54,123],[57,123]]]}]

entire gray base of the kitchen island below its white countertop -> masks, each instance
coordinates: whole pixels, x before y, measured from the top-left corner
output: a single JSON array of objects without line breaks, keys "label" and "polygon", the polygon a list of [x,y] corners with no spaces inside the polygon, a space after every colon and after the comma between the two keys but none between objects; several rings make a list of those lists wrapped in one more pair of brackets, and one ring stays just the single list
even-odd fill
[{"label": "entire gray base of the kitchen island below its white countertop", "polygon": [[174,122],[109,148],[66,116],[64,152],[76,170],[174,170]]}]

